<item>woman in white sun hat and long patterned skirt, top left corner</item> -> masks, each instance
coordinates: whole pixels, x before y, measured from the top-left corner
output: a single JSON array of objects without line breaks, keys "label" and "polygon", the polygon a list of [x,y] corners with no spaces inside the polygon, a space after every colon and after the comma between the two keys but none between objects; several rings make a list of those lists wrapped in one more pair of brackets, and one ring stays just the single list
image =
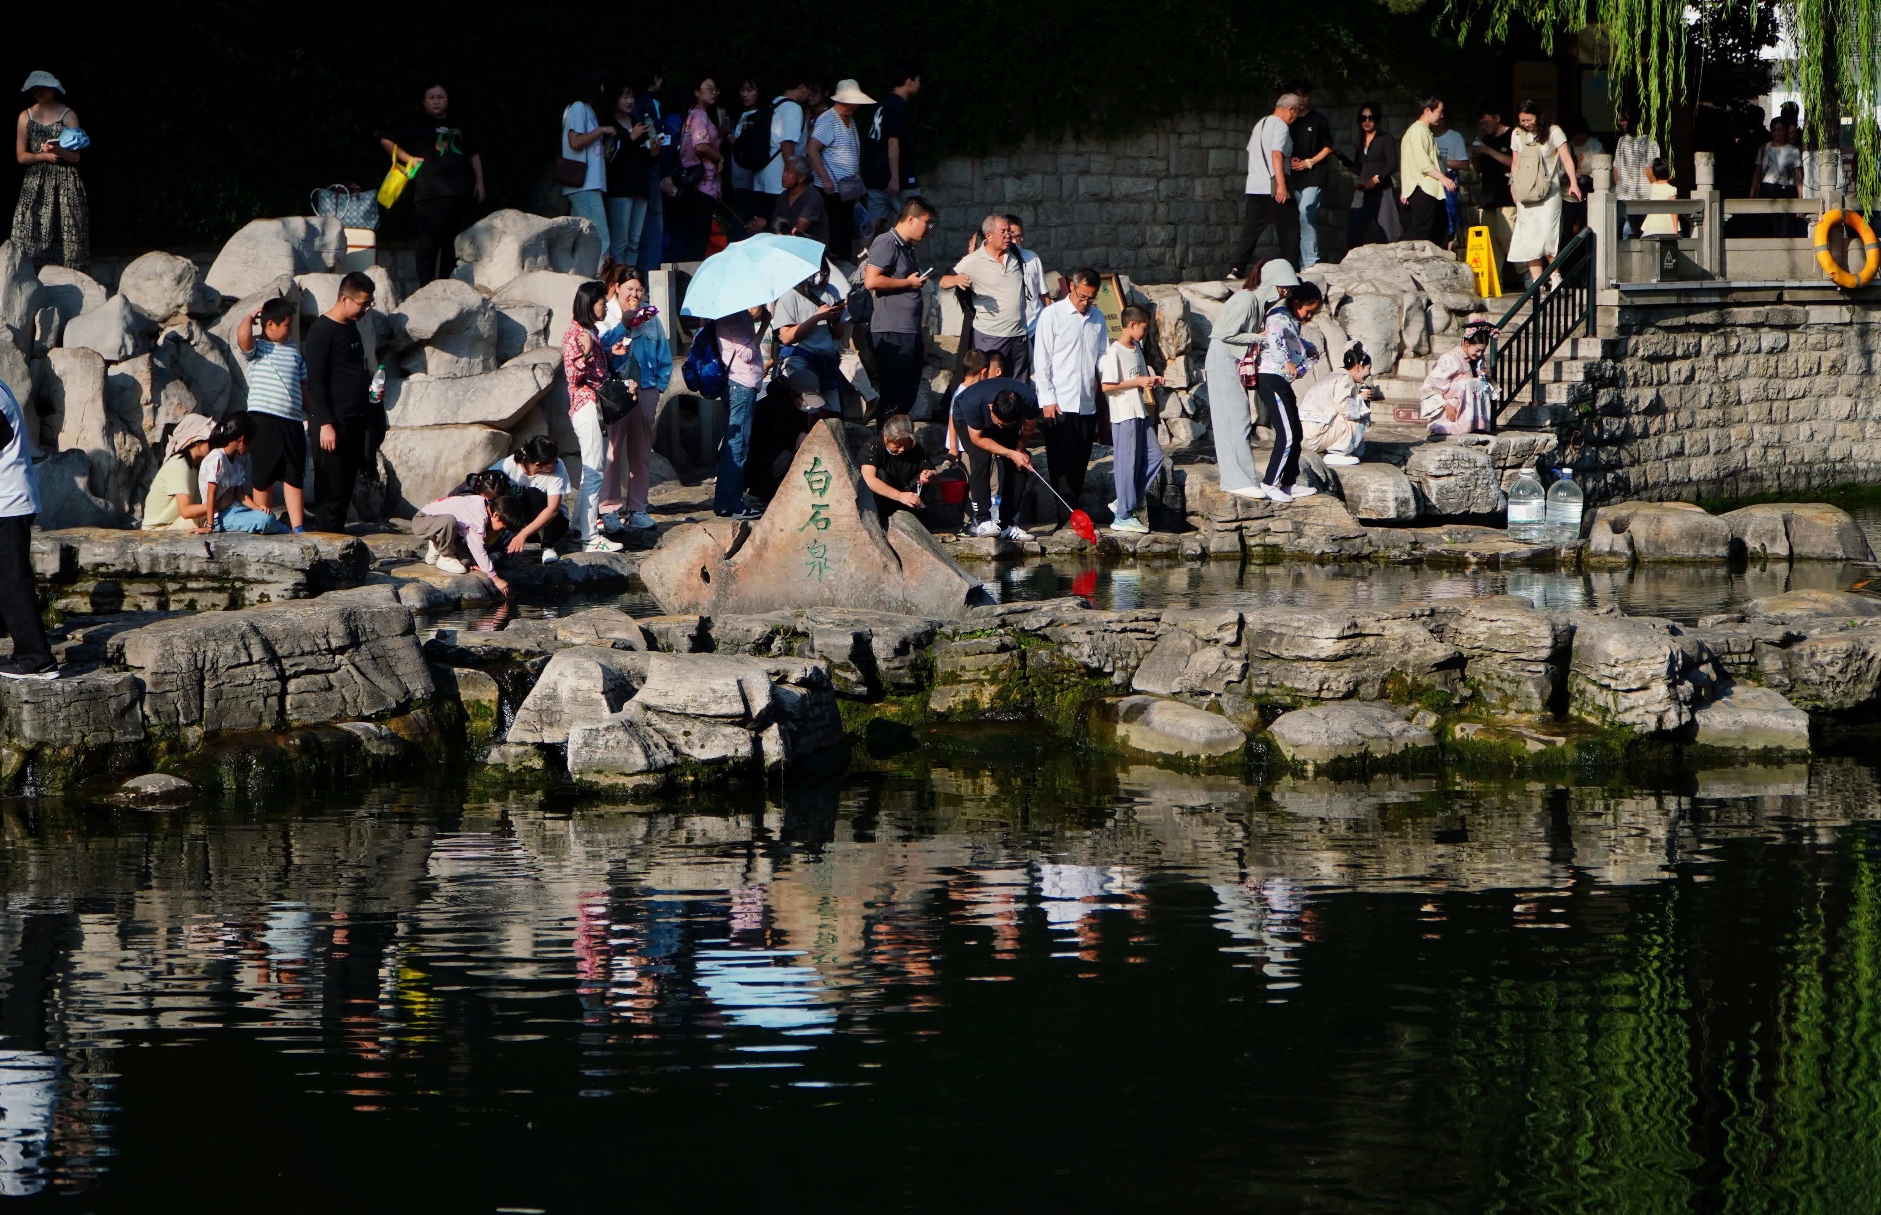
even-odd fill
[{"label": "woman in white sun hat and long patterned skirt, top left corner", "polygon": [[32,105],[19,113],[13,158],[26,166],[13,209],[13,246],[41,265],[83,271],[92,260],[92,220],[79,181],[79,152],[58,147],[79,115],[66,105],[66,88],[51,71],[34,71],[21,90]]}]

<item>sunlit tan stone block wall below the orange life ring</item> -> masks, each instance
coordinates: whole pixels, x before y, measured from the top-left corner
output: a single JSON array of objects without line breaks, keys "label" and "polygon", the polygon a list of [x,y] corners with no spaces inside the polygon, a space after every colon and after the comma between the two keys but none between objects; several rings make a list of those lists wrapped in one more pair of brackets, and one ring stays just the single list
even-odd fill
[{"label": "sunlit tan stone block wall below the orange life ring", "polygon": [[[1591,500],[1813,493],[1881,480],[1881,308],[1603,308],[1593,418],[1576,476]],[[1612,335],[1612,337],[1606,337]]]}]

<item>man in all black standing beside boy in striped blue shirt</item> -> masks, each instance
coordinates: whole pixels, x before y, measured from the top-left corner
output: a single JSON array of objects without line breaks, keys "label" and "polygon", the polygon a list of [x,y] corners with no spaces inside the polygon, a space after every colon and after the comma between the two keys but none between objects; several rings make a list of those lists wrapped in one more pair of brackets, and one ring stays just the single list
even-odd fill
[{"label": "man in all black standing beside boy in striped blue shirt", "polygon": [[340,278],[340,297],[307,327],[307,429],[314,450],[314,530],[346,530],[346,508],[367,465],[367,453],[386,434],[386,406],[369,393],[359,318],[372,307],[372,280],[354,271]]}]

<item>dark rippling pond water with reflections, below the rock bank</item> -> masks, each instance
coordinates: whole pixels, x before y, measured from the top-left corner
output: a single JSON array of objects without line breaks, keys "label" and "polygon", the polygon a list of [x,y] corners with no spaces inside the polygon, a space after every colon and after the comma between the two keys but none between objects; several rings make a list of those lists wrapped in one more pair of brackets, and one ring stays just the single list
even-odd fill
[{"label": "dark rippling pond water with reflections, below the rock bank", "polygon": [[438,781],[0,814],[9,1209],[1881,1192],[1853,758],[1258,786],[988,728],[656,811]]}]

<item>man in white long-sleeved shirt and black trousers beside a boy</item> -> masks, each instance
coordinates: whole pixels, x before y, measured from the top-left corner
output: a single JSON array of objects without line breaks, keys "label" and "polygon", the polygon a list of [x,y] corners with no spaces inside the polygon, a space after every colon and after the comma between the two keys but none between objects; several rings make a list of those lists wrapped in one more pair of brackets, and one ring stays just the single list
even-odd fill
[{"label": "man in white long-sleeved shirt and black trousers beside a boy", "polygon": [[[1065,299],[1038,316],[1038,340],[1033,346],[1048,480],[1070,510],[1078,510],[1083,472],[1091,465],[1091,444],[1097,440],[1097,365],[1110,346],[1104,314],[1093,307],[1097,284],[1097,271],[1072,271]],[[1070,519],[1065,506],[1053,502],[1051,508],[1063,515],[1059,525]]]}]

